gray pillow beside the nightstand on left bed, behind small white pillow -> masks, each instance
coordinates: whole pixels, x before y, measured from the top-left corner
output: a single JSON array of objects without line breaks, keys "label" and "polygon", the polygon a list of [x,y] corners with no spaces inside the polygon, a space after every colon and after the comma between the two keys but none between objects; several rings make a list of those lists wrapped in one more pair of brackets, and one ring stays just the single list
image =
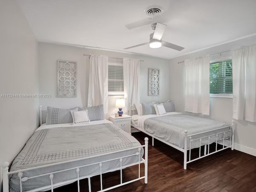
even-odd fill
[{"label": "gray pillow beside the nightstand on left bed, behind small white pillow", "polygon": [[104,120],[105,114],[104,114],[104,105],[99,106],[92,106],[92,107],[82,107],[78,108],[78,110],[88,110],[88,116],[90,121],[98,121],[98,120]]}]

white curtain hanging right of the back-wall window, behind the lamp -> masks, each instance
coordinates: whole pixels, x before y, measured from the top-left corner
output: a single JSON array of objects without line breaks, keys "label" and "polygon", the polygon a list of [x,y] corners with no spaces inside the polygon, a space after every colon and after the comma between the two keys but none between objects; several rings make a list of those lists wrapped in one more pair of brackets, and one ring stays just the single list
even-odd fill
[{"label": "white curtain hanging right of the back-wall window, behind the lamp", "polygon": [[129,103],[140,103],[140,60],[124,58],[124,102],[125,112]]}]

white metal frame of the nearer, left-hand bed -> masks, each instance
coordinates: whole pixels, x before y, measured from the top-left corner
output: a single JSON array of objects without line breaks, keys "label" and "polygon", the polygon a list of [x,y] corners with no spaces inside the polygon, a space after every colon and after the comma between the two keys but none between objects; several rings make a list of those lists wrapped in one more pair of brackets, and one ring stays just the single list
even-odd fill
[{"label": "white metal frame of the nearer, left-hand bed", "polygon": [[[40,114],[40,124],[42,124],[42,106],[40,106],[40,108],[39,108],[39,114]],[[142,147],[145,148],[145,150],[144,150],[144,154],[145,154],[144,159],[141,157],[141,153],[140,153]],[[86,165],[77,166],[77,167],[73,167],[73,168],[68,168],[68,169],[64,169],[64,170],[58,170],[58,171],[55,171],[55,172],[48,172],[46,174],[41,174],[41,175],[37,175],[37,176],[22,177],[23,172],[25,172],[25,171],[36,170],[36,169],[40,169],[40,168],[51,167],[51,166],[56,166],[56,165],[60,165],[60,164],[76,162],[76,161],[80,161],[80,160],[86,160],[86,159],[89,159],[89,158],[105,156],[105,155],[114,154],[114,153],[118,153],[118,152],[125,152],[125,151],[132,150],[132,149],[138,149],[138,152],[136,152],[134,154],[127,155],[127,156],[122,156],[122,157],[118,157],[118,158],[114,158],[114,159],[110,159],[110,160],[95,162],[95,163],[92,163],[92,164],[86,164]],[[139,157],[138,162],[123,166],[122,165],[123,159],[128,158],[130,156],[138,156]],[[114,161],[114,160],[119,160],[120,167],[116,168],[116,169],[107,170],[105,172],[102,172],[102,166],[104,166],[104,163]],[[144,163],[144,176],[141,176],[141,173],[140,173],[140,170],[141,170],[140,166],[141,165],[140,164],[143,164],[143,163]],[[18,177],[20,179],[20,192],[23,191],[22,182],[25,182],[25,181],[27,181],[29,179],[33,179],[33,178],[38,178],[38,177],[41,177],[41,176],[49,176],[49,180],[51,182],[51,185],[36,188],[34,190],[30,190],[30,191],[26,191],[26,192],[37,192],[37,191],[46,190],[46,189],[51,189],[51,192],[53,192],[54,188],[58,188],[60,186],[64,186],[66,184],[70,184],[70,183],[76,182],[76,181],[77,181],[78,192],[80,192],[80,182],[79,181],[81,179],[85,179],[85,178],[88,178],[88,190],[89,190],[89,192],[91,192],[92,189],[91,189],[90,178],[93,177],[93,176],[96,176],[96,175],[89,175],[89,176],[83,176],[82,177],[82,176],[79,175],[79,172],[80,172],[80,169],[82,169],[82,168],[85,168],[85,167],[88,167],[88,166],[93,166],[93,165],[96,165],[96,164],[98,164],[98,166],[99,166],[98,168],[100,170],[100,192],[108,191],[108,190],[111,190],[111,189],[129,184],[129,183],[141,180],[141,179],[144,179],[144,183],[147,184],[148,183],[148,138],[147,137],[145,138],[145,144],[144,145],[133,147],[133,148],[128,148],[128,149],[119,150],[119,151],[116,151],[116,152],[109,152],[109,153],[105,153],[105,154],[90,156],[90,157],[86,157],[86,158],[79,158],[79,159],[75,159],[75,160],[68,160],[68,161],[64,161],[64,162],[58,162],[58,163],[53,163],[53,164],[48,164],[48,165],[43,165],[43,166],[37,166],[37,167],[33,167],[33,168],[26,168],[26,169],[22,169],[22,170],[11,171],[11,172],[9,172],[9,167],[8,167],[9,162],[4,162],[4,164],[2,164],[2,168],[3,168],[3,192],[9,192],[9,175],[15,174],[15,173],[18,173]],[[122,170],[124,168],[127,168],[129,166],[134,166],[134,165],[138,165],[138,178],[127,181],[127,182],[123,182]],[[66,171],[71,171],[71,170],[76,172],[76,174],[77,174],[76,179],[67,180],[67,181],[59,182],[59,183],[53,183],[54,174],[60,173],[60,172],[63,172],[63,174],[65,174]],[[103,189],[102,174],[107,173],[107,172],[113,172],[113,171],[116,171],[116,170],[120,170],[120,184],[117,184],[115,186]]]}]

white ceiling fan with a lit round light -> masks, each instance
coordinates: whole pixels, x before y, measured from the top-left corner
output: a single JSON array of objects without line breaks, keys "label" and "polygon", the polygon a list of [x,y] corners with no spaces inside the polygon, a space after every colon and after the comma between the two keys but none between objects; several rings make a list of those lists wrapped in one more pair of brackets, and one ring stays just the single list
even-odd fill
[{"label": "white ceiling fan with a lit round light", "polygon": [[161,46],[165,46],[177,51],[181,51],[184,49],[184,47],[166,42],[162,40],[162,36],[164,34],[164,30],[166,28],[165,24],[162,23],[153,23],[151,24],[152,29],[154,30],[154,32],[152,34],[150,34],[150,40],[149,42],[146,43],[142,43],[142,44],[138,44],[138,45],[134,45],[131,47],[127,47],[124,49],[130,49],[130,48],[134,48],[134,47],[138,47],[138,46],[142,46],[142,45],[146,45],[149,44],[150,48],[159,48]]}]

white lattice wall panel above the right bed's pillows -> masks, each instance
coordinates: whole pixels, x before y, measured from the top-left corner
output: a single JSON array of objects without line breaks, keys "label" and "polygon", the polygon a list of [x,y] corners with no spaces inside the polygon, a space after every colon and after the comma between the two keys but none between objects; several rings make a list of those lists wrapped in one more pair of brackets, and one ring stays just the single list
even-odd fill
[{"label": "white lattice wall panel above the right bed's pillows", "polygon": [[148,96],[159,95],[160,69],[148,68]]}]

